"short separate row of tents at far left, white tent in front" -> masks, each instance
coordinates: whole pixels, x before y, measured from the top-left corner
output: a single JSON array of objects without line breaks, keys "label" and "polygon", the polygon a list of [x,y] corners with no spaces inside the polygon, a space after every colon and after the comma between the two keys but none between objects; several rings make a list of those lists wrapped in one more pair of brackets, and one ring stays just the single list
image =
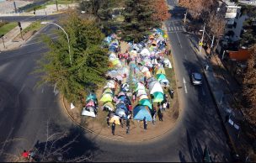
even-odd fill
[{"label": "short separate row of tents at far left, white tent in front", "polygon": [[82,115],[95,118],[97,115],[98,100],[95,93],[90,92],[86,98],[86,105],[83,108]]}]

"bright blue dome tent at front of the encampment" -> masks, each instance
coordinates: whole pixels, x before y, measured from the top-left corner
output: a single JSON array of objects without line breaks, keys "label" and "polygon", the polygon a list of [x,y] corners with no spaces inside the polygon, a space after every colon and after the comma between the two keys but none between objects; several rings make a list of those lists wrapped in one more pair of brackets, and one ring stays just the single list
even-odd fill
[{"label": "bright blue dome tent at front of the encampment", "polygon": [[152,121],[150,111],[145,106],[137,105],[136,108],[133,109],[133,119],[143,120],[144,117],[146,117],[147,121]]}]

